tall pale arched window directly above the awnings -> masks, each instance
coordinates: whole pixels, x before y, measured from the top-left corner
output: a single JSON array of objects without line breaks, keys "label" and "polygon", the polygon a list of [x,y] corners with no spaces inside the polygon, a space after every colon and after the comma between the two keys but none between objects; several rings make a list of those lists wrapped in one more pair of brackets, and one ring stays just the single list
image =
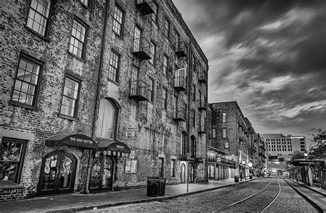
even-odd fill
[{"label": "tall pale arched window directly above the awnings", "polygon": [[116,138],[116,116],[118,109],[108,99],[100,101],[100,112],[98,114],[98,125],[96,136],[103,139]]}]

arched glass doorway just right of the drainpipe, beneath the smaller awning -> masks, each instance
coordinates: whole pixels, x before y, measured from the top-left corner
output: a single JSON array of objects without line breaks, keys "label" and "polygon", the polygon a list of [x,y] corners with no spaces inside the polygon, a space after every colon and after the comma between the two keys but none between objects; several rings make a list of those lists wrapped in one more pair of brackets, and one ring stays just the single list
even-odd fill
[{"label": "arched glass doorway just right of the drainpipe, beneath the smaller awning", "polygon": [[111,190],[113,183],[113,161],[110,156],[99,156],[93,160],[89,190]]}]

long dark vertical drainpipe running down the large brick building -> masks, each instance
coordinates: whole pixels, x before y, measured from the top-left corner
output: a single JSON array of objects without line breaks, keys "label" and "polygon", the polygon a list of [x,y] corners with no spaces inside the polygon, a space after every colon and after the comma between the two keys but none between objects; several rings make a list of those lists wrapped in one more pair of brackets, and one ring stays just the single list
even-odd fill
[{"label": "long dark vertical drainpipe running down the large brick building", "polygon": [[[102,77],[102,66],[103,66],[103,55],[105,50],[105,35],[107,34],[107,17],[108,17],[108,11],[109,11],[109,0],[105,2],[105,18],[104,18],[104,27],[103,27],[103,33],[102,33],[102,45],[100,49],[100,68],[98,70],[98,85],[96,88],[96,100],[95,100],[95,107],[94,107],[94,117],[93,117],[93,128],[91,131],[91,138],[95,138],[95,128],[96,128],[96,115],[97,115],[97,109],[98,109],[98,101],[100,99],[100,81]],[[85,192],[89,192],[89,181],[91,179],[91,159],[93,155],[93,150],[89,150],[89,159],[88,159],[88,165],[87,165],[87,179],[86,179],[86,188]]]}]

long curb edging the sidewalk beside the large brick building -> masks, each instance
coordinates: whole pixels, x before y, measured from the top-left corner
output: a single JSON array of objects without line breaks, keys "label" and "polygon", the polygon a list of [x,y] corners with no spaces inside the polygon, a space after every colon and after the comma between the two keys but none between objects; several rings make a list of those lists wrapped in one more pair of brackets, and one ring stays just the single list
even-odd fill
[{"label": "long curb edging the sidewalk beside the large brick building", "polygon": [[53,211],[50,210],[50,211],[45,211],[45,212],[77,212],[77,211],[93,210],[94,207],[97,207],[98,209],[101,209],[101,208],[105,208],[105,207],[113,207],[113,206],[118,206],[118,205],[129,205],[129,204],[134,204],[134,203],[149,203],[149,202],[152,202],[152,201],[165,201],[165,200],[174,199],[174,198],[177,198],[177,197],[180,197],[180,196],[197,194],[197,193],[200,193],[200,192],[208,192],[208,191],[217,190],[217,189],[228,187],[228,186],[231,186],[231,185],[237,185],[237,184],[246,183],[246,182],[250,182],[250,181],[254,181],[254,180],[256,180],[256,179],[250,179],[248,181],[239,182],[239,183],[230,183],[229,185],[222,185],[222,186],[219,186],[219,187],[213,187],[213,188],[206,189],[206,190],[199,190],[199,191],[196,191],[196,192],[188,192],[188,193],[177,194],[177,195],[172,195],[172,196],[157,197],[157,198],[153,198],[153,199],[122,201],[122,202],[117,202],[117,203],[107,203],[107,204],[102,204],[102,205],[91,205],[91,206],[84,206],[84,207],[73,207],[73,208],[68,208],[68,209],[63,209],[63,210],[53,210]]}]

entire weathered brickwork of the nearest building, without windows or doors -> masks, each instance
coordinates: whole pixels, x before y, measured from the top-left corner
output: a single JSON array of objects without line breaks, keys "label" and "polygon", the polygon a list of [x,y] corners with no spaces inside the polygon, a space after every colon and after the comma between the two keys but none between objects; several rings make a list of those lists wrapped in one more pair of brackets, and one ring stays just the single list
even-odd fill
[{"label": "entire weathered brickwork of the nearest building, without windows or doors", "polygon": [[[118,37],[112,31],[113,10],[115,3],[118,3],[124,10],[124,34]],[[129,145],[135,150],[135,159],[138,159],[138,173],[124,173],[124,158],[119,159],[117,165],[117,180],[113,187],[129,188],[142,187],[146,185],[147,176],[157,176],[159,156],[164,157],[164,177],[167,184],[180,182],[180,161],[176,162],[175,177],[171,177],[171,159],[179,159],[181,149],[181,132],[187,132],[188,137],[195,136],[197,141],[197,157],[206,160],[206,134],[198,134],[199,113],[202,114],[202,121],[206,118],[206,112],[198,110],[199,96],[196,101],[188,101],[191,95],[191,87],[188,92],[176,93],[173,88],[174,72],[177,68],[187,68],[187,76],[191,77],[191,84],[195,83],[197,92],[199,88],[207,97],[207,87],[199,85],[198,73],[191,70],[191,54],[201,61],[204,69],[208,70],[208,62],[190,30],[186,27],[181,15],[171,6],[171,1],[158,1],[159,17],[157,23],[151,21],[149,15],[142,16],[135,8],[135,4],[129,1],[109,1],[109,17],[107,20],[107,34],[105,35],[105,50],[102,61],[102,76],[100,81],[100,99],[109,97],[120,105],[118,115],[117,140]],[[14,128],[10,131],[30,132],[32,139],[28,141],[21,185],[28,187],[30,191],[21,192],[23,197],[34,194],[39,182],[42,157],[55,150],[45,147],[45,139],[58,133],[75,132],[92,135],[94,110],[96,103],[96,87],[98,74],[100,73],[100,45],[102,44],[102,30],[104,28],[105,0],[92,1],[91,8],[85,8],[77,0],[65,1],[54,5],[49,37],[43,39],[32,30],[25,27],[26,17],[30,1],[6,1],[1,5],[3,23],[1,23],[1,77],[0,77],[0,111],[3,130]],[[85,59],[80,60],[69,54],[69,39],[72,30],[74,17],[78,17],[88,26],[87,42],[85,47]],[[171,21],[171,36],[164,37],[164,17]],[[143,36],[153,40],[156,45],[155,64],[149,61],[137,61],[133,58],[131,48],[133,46],[133,30],[135,23],[144,29]],[[188,46],[188,57],[177,59],[173,50],[175,29],[180,33],[182,39]],[[191,46],[191,48],[190,48]],[[120,76],[118,83],[108,79],[109,59],[111,50],[116,50],[120,55]],[[24,108],[10,102],[12,87],[17,72],[19,54],[26,54],[44,62],[39,97],[37,98],[36,109]],[[162,74],[162,56],[167,54],[172,69],[167,76]],[[197,62],[199,63],[199,62]],[[154,101],[133,101],[129,99],[129,79],[131,78],[131,66],[140,68],[140,79],[148,81],[148,77],[155,80]],[[191,73],[192,72],[192,73]],[[59,116],[61,99],[63,94],[65,74],[71,74],[81,81],[80,98],[78,102],[78,113],[76,119],[67,119]],[[190,85],[191,85],[190,84]],[[168,110],[162,110],[162,88],[169,92]],[[189,109],[196,110],[196,125],[188,125],[186,122],[173,120],[175,110],[175,99],[177,95],[179,102],[185,102]],[[100,99],[98,101],[100,101]],[[98,104],[99,107],[99,104]],[[188,115],[189,118],[189,115]],[[190,127],[190,128],[188,128]],[[135,140],[124,138],[124,131],[135,130]],[[0,135],[2,136],[2,135]],[[89,152],[78,148],[61,147],[72,152],[78,159],[78,169],[75,181],[75,192],[85,190],[87,163]],[[197,165],[195,172],[197,181],[206,180],[206,165]],[[6,192],[7,193],[7,192]],[[10,192],[11,193],[11,192]],[[17,196],[21,198],[21,196]]]}]

